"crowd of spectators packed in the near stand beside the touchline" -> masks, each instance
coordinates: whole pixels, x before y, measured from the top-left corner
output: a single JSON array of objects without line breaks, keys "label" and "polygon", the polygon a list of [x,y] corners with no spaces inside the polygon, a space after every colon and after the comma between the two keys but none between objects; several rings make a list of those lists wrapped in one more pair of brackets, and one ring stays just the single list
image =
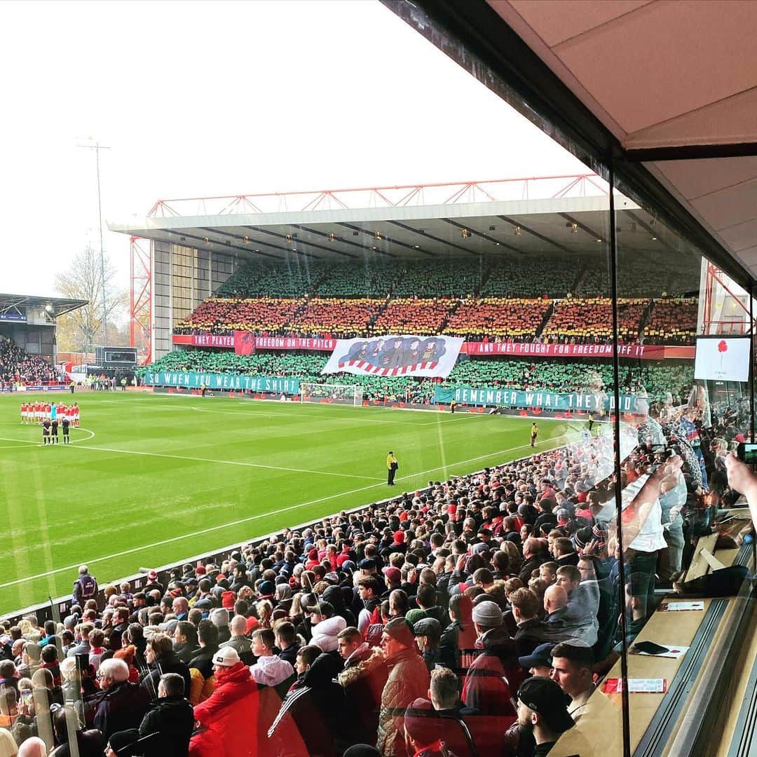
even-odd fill
[{"label": "crowd of spectators packed in the near stand beside the touchline", "polygon": [[615,754],[598,684],[620,608],[631,644],[713,531],[691,438],[660,410],[624,428],[618,481],[612,434],[583,435],[139,590],[99,594],[82,566],[62,623],[0,625],[2,753]]}]

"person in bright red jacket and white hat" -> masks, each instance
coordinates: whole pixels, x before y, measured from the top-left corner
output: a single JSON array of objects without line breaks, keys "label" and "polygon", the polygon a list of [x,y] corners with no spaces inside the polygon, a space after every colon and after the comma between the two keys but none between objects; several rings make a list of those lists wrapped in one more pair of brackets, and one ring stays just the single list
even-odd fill
[{"label": "person in bright red jacket and white hat", "polygon": [[208,740],[215,735],[219,737],[222,747],[216,752],[219,757],[254,757],[258,694],[250,668],[241,662],[232,646],[223,646],[213,655],[213,674],[216,690],[195,706],[195,720],[210,731]]}]

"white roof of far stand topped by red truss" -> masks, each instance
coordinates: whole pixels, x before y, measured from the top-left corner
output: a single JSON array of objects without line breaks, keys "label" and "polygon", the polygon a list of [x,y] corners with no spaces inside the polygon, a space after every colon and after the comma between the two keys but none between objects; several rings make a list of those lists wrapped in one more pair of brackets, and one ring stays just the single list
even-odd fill
[{"label": "white roof of far stand topped by red truss", "polygon": [[[451,194],[450,194],[451,192]],[[654,255],[678,237],[628,198],[625,243]],[[158,201],[111,231],[251,260],[606,252],[608,198],[598,176],[234,195]]]}]

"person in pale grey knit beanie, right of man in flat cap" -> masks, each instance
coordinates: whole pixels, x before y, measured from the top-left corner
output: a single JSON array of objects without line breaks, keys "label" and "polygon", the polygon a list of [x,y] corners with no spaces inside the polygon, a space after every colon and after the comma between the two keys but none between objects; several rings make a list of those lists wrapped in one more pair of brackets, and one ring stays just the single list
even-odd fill
[{"label": "person in pale grey knit beanie, right of man in flat cap", "polygon": [[[502,609],[484,600],[473,606],[476,646],[484,651],[473,660],[463,680],[463,702],[481,715],[513,717],[512,697],[524,675],[518,664],[518,646],[503,625]],[[511,688],[512,687],[512,688]]]}]

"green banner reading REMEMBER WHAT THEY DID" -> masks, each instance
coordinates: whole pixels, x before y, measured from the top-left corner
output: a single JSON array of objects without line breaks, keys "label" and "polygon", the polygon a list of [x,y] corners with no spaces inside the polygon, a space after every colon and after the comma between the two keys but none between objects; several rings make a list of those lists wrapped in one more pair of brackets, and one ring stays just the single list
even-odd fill
[{"label": "green banner reading REMEMBER WHAT THEY DID", "polygon": [[[440,387],[435,389],[434,401],[448,404],[452,400],[464,405],[487,405],[495,407],[538,407],[542,410],[578,411],[581,413],[600,413],[615,410],[615,397],[612,394],[553,394],[550,391],[520,391],[515,389],[474,389],[469,386],[456,388]],[[635,394],[620,395],[621,413],[646,414],[648,409],[646,397]]]}]

